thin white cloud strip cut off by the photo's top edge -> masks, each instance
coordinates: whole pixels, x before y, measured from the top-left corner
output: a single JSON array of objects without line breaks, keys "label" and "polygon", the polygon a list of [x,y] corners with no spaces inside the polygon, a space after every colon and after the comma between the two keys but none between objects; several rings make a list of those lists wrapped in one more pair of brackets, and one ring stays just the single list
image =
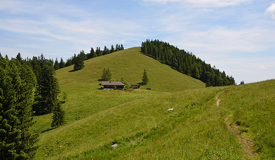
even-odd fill
[{"label": "thin white cloud strip cut off by the photo's top edge", "polygon": [[236,6],[242,3],[250,2],[251,0],[143,0],[143,2],[152,3],[182,3],[193,5],[194,7],[227,7]]}]

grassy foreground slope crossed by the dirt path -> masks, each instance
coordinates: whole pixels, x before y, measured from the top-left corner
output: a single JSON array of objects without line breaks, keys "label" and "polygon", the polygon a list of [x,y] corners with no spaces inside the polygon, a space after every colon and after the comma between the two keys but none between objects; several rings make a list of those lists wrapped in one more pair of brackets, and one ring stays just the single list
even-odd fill
[{"label": "grassy foreground slope crossed by the dirt path", "polygon": [[[45,132],[37,158],[272,159],[273,88],[275,80],[151,95],[117,105]],[[174,111],[166,112],[169,108]]]}]

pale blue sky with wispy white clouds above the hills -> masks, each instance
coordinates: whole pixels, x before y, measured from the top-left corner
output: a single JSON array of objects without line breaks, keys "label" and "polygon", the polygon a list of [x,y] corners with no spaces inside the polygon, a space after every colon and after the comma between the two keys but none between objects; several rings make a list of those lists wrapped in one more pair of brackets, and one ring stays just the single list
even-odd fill
[{"label": "pale blue sky with wispy white clouds above the hills", "polygon": [[0,52],[67,59],[80,50],[159,39],[224,70],[237,84],[275,78],[275,1],[0,0]]}]

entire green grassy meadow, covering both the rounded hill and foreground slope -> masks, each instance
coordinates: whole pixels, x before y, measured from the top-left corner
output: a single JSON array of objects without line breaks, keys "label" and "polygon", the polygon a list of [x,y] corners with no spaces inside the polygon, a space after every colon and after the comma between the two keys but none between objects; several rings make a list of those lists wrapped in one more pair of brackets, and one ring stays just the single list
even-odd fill
[{"label": "entire green grassy meadow, covering both the rounded hill and foreground slope", "polygon": [[[103,68],[139,90],[97,90]],[[205,88],[197,79],[129,48],[56,71],[66,124],[35,117],[36,159],[273,159],[275,80]],[[146,90],[151,88],[151,90]],[[221,102],[216,105],[217,99]],[[171,112],[168,109],[173,108]],[[249,142],[251,145],[245,145]],[[111,145],[118,144],[113,148]]]}]

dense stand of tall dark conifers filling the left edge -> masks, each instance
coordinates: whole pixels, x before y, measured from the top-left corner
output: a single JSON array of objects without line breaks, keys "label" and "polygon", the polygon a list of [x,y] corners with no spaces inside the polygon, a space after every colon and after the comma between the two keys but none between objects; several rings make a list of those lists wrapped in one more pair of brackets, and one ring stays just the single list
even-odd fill
[{"label": "dense stand of tall dark conifers filling the left edge", "polygon": [[30,159],[35,155],[38,134],[30,131],[33,116],[53,113],[52,127],[65,123],[59,100],[60,88],[52,60],[41,54],[9,60],[0,53],[0,157]]}]

